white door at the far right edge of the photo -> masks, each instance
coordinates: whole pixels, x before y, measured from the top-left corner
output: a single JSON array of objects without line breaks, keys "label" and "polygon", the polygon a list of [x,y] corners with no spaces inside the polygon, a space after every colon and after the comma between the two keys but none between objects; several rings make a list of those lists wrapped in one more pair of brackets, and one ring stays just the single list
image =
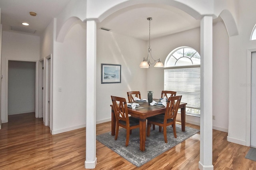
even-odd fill
[{"label": "white door at the far right edge of the photo", "polygon": [[252,53],[251,70],[251,146],[256,148],[256,52]]}]

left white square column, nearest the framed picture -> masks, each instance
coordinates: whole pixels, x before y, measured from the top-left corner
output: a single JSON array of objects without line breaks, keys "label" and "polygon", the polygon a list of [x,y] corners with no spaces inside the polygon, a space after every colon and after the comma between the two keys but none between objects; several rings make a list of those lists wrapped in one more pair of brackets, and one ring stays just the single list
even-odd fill
[{"label": "left white square column, nearest the framed picture", "polygon": [[[86,30],[86,160],[84,167],[94,169],[96,158],[96,22],[87,21]],[[88,105],[87,103],[90,103]]]}]

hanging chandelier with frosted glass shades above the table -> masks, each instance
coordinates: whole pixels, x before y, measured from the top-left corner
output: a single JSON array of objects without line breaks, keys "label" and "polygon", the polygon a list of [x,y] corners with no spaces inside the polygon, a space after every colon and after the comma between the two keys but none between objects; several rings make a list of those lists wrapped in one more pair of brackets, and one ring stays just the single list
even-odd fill
[{"label": "hanging chandelier with frosted glass shades above the table", "polygon": [[[147,20],[149,20],[149,45],[148,45],[148,57],[147,59],[145,59],[145,57],[143,58],[143,61],[140,63],[140,68],[144,68],[144,69],[148,69],[149,66],[151,64],[154,64],[156,61],[156,65],[154,67],[164,67],[163,63],[160,61],[160,58],[155,60],[153,57],[152,57],[152,54],[151,54],[151,48],[150,48],[150,21],[152,20],[153,18],[149,17],[147,18]],[[154,63],[150,63],[150,59],[149,58],[152,58],[154,60]]]}]

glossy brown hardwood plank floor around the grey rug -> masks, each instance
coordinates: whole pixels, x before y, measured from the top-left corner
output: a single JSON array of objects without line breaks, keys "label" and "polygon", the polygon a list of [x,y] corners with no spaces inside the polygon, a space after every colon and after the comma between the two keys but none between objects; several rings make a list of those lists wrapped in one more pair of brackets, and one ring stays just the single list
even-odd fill
[{"label": "glossy brown hardwood plank floor around the grey rug", "polygon": [[[10,115],[0,130],[0,170],[62,169],[83,170],[85,161],[85,128],[50,134],[42,118],[34,113]],[[186,126],[198,128],[186,123]],[[96,133],[111,130],[111,123],[96,126]],[[256,162],[244,158],[250,147],[227,142],[227,133],[213,130],[214,170],[253,170]],[[179,169],[198,170],[200,134],[188,138],[139,168],[96,141],[95,170]]]}]

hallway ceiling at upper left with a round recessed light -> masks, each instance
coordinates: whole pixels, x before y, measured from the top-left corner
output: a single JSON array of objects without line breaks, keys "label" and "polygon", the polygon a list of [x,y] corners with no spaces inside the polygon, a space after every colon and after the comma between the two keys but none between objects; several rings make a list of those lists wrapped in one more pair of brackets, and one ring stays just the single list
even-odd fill
[{"label": "hallway ceiling at upper left with a round recessed light", "polygon": [[[10,31],[10,26],[36,30],[40,33],[57,17],[70,0],[0,0],[1,24],[4,31]],[[29,12],[36,12],[30,16]],[[21,23],[27,22],[29,26]]]}]

